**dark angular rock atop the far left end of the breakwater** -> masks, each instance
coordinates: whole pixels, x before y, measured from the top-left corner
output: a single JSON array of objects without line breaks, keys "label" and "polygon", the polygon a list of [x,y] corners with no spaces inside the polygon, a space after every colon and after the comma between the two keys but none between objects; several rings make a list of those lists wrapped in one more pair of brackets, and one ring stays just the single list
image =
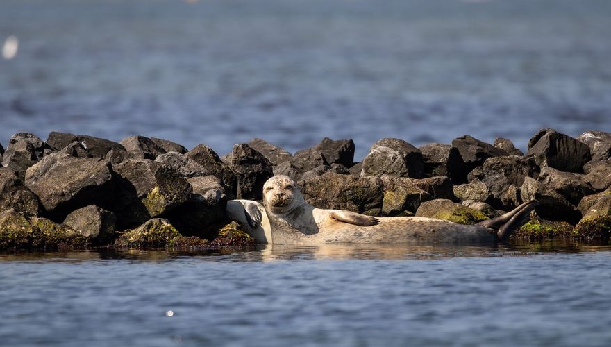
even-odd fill
[{"label": "dark angular rock atop the far left end of the breakwater", "polygon": [[2,165],[16,171],[23,178],[28,167],[42,159],[44,155],[53,153],[47,142],[31,133],[17,133],[8,142],[6,153],[2,157]]}]

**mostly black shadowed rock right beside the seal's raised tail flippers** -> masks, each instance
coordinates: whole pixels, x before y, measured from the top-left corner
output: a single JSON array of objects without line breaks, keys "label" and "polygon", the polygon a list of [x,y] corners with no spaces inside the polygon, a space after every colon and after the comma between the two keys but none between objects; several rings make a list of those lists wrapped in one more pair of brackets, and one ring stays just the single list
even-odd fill
[{"label": "mostly black shadowed rock right beside the seal's raised tail flippers", "polygon": [[522,201],[537,200],[535,212],[551,221],[567,221],[575,224],[581,219],[581,214],[567,198],[548,188],[535,178],[526,177],[521,188]]}]

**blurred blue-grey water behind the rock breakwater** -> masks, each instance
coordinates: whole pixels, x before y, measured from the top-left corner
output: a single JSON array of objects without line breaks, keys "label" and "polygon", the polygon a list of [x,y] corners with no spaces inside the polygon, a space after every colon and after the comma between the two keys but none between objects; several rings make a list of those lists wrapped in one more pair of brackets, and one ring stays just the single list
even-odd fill
[{"label": "blurred blue-grey water behind the rock breakwater", "polygon": [[3,0],[0,142],[524,149],[543,127],[611,130],[610,18],[607,0]]}]

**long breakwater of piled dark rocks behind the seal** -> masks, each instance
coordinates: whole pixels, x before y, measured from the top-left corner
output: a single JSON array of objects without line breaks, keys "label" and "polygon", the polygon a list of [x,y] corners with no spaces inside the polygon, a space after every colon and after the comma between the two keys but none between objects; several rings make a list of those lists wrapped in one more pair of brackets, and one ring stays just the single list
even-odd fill
[{"label": "long breakwater of piled dark rocks behind the seal", "polygon": [[274,174],[296,180],[318,208],[372,216],[477,223],[534,198],[533,220],[515,237],[608,242],[610,133],[543,129],[526,154],[468,135],[419,148],[380,139],[361,162],[354,149],[325,138],[292,155],[253,139],[219,157],[143,136],[17,133],[0,146],[0,249],[249,246],[226,201],[260,200]]}]

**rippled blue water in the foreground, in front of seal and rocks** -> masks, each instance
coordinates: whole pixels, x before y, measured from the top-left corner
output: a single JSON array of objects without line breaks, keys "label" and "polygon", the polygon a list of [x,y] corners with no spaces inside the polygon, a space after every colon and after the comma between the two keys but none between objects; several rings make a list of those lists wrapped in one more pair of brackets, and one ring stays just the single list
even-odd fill
[{"label": "rippled blue water in the foreground, in front of seal and rocks", "polygon": [[3,254],[0,345],[609,346],[610,251]]}]

